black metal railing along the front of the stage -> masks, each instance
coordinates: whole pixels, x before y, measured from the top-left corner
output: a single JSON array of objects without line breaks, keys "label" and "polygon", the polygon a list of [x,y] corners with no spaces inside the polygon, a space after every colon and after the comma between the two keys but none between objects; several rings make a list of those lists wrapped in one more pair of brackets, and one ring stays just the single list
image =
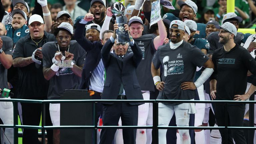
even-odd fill
[{"label": "black metal railing along the front of the stage", "polygon": [[[252,96],[254,99],[254,95]],[[158,143],[158,129],[248,129],[248,130],[256,130],[256,127],[229,127],[228,126],[228,115],[227,115],[227,104],[230,103],[239,103],[239,104],[255,104],[256,101],[201,101],[201,100],[24,100],[24,99],[0,99],[0,101],[13,102],[13,115],[14,115],[14,124],[13,125],[0,125],[0,128],[14,128],[14,144],[18,144],[19,132],[18,128],[26,128],[26,129],[41,129],[41,138],[42,143],[45,144],[45,130],[47,129],[94,129],[94,143],[97,143],[97,130],[98,129],[153,129],[152,133],[152,141]],[[29,126],[29,125],[18,125],[18,102],[26,102],[26,103],[39,103],[42,104],[42,123],[41,126]],[[110,102],[110,103],[153,103],[153,126],[97,126],[95,122],[95,103],[99,102]],[[45,126],[45,104],[48,103],[93,103],[93,126]],[[186,127],[178,127],[178,126],[158,126],[158,103],[224,103],[225,104],[225,126],[222,127],[212,127],[212,126],[186,126]],[[253,107],[250,107],[253,108]],[[251,113],[251,112],[250,112]],[[250,115],[250,121],[253,121],[253,114]],[[253,122],[251,122],[253,124]],[[249,134],[249,136],[253,136]]]}]

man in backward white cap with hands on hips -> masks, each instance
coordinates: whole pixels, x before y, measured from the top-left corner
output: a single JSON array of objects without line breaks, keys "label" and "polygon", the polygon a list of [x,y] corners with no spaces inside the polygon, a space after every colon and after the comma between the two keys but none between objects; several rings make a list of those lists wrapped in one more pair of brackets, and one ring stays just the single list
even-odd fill
[{"label": "man in backward white cap with hands on hips", "polygon": [[[213,63],[195,46],[182,40],[185,24],[174,20],[170,24],[170,44],[160,46],[152,60],[151,73],[156,88],[160,91],[157,99],[193,100],[195,89],[200,87],[212,74]],[[163,67],[162,81],[160,66]],[[202,75],[194,81],[196,67],[204,66]],[[159,103],[158,125],[168,126],[175,112],[177,126],[188,126],[190,113],[196,113],[193,103]],[[166,144],[167,130],[159,130],[159,143]],[[189,130],[179,129],[180,142],[190,144]]]}]

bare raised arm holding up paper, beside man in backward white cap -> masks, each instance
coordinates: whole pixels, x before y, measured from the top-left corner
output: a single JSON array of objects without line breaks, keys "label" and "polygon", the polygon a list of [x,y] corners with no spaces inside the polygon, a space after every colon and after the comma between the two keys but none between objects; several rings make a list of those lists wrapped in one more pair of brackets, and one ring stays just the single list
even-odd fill
[{"label": "bare raised arm holding up paper, beside man in backward white cap", "polygon": [[159,36],[154,38],[154,46],[156,50],[158,49],[159,46],[163,45],[164,39],[167,37],[167,32],[165,30],[164,22],[162,20],[159,20],[157,24],[158,24]]}]

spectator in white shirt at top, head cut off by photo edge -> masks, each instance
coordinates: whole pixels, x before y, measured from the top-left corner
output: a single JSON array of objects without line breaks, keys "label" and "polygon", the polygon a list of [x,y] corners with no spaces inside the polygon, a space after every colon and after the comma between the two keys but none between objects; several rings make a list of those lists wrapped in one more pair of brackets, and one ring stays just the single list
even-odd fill
[{"label": "spectator in white shirt at top, head cut off by photo edge", "polygon": [[86,10],[80,8],[76,4],[76,0],[64,0],[65,6],[63,6],[63,10],[68,11],[71,15],[72,21],[75,20],[76,17],[85,15],[87,13]]}]

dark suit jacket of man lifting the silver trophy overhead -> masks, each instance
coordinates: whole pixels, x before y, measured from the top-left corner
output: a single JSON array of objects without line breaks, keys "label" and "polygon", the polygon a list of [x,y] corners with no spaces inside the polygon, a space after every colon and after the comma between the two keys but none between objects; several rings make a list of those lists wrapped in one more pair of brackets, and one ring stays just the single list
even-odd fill
[{"label": "dark suit jacket of man lifting the silver trophy overhead", "polygon": [[[113,44],[114,43],[109,39],[101,50],[101,58],[107,74],[101,99],[116,100],[121,83],[123,83],[126,98],[128,100],[143,99],[136,75],[136,68],[142,59],[141,49],[137,44],[134,44],[131,46],[133,52],[129,54],[126,53],[121,60],[115,52],[109,52]],[[141,103],[130,104],[139,105]]]}]

